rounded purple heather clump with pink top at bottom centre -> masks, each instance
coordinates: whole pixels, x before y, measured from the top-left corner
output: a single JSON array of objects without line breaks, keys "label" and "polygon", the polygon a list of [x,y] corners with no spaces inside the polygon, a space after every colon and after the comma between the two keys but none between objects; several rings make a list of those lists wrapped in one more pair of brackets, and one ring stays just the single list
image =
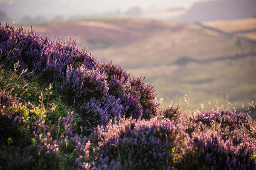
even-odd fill
[{"label": "rounded purple heather clump with pink top at bottom centre", "polygon": [[188,136],[168,119],[128,119],[95,129],[95,169],[171,169]]}]

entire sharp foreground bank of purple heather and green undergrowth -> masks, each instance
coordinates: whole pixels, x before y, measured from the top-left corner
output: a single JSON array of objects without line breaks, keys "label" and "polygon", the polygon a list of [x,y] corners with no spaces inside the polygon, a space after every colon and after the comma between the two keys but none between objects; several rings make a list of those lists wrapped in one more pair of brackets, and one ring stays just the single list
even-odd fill
[{"label": "entire sharp foreground bank of purple heather and green undergrowth", "polygon": [[3,170],[255,169],[248,112],[160,107],[144,76],[22,27],[0,26],[0,52]]}]

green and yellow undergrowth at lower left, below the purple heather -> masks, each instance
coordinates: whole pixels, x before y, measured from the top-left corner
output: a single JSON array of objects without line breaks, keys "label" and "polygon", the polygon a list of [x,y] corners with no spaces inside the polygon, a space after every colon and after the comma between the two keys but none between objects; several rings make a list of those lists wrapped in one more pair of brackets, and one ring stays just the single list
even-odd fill
[{"label": "green and yellow undergrowth at lower left, below the purple heather", "polygon": [[[66,147],[62,146],[66,156],[62,157],[59,153],[51,153],[49,157],[45,157],[38,155],[39,141],[32,135],[32,124],[44,119],[45,125],[50,127],[54,139],[62,136],[61,133],[58,134],[58,131],[62,132],[65,129],[60,129],[62,127],[55,125],[58,119],[65,117],[72,108],[66,106],[62,102],[62,96],[53,90],[57,88],[59,88],[58,85],[52,86],[39,81],[39,79],[30,79],[24,73],[18,75],[16,70],[0,68],[0,90],[9,92],[6,95],[9,95],[11,100],[5,102],[5,105],[0,105],[0,110],[7,115],[12,114],[22,118],[22,121],[17,123],[0,116],[1,169],[25,170],[33,167],[35,170],[47,170],[50,167],[54,170],[64,170],[68,166],[74,166],[77,153],[73,153],[72,147],[75,146],[70,144],[69,140],[66,140]],[[12,104],[10,104],[11,102]],[[79,121],[80,119],[75,113],[74,122]],[[74,126],[74,129],[79,131],[80,127]],[[29,146],[32,146],[32,149],[28,152]],[[24,154],[32,155],[32,157],[24,157]],[[27,163],[21,168],[20,165],[23,161]],[[2,164],[1,162],[8,163]]]}]

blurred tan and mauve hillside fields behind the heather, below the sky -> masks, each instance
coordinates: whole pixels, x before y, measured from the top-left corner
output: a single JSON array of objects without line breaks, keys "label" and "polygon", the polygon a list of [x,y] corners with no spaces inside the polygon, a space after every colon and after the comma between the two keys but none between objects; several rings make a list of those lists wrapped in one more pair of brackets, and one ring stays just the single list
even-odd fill
[{"label": "blurred tan and mauve hillside fields behind the heather, below the sky", "polygon": [[236,37],[254,34],[248,30],[255,29],[255,21],[204,23],[234,33],[232,37],[194,24],[129,18],[49,23],[33,29],[51,40],[77,39],[99,60],[113,61],[134,76],[147,74],[146,81],[152,82],[164,105],[181,102],[187,110],[200,108],[200,103],[211,109],[216,101],[218,106],[230,102],[239,108],[256,100],[256,44]]}]

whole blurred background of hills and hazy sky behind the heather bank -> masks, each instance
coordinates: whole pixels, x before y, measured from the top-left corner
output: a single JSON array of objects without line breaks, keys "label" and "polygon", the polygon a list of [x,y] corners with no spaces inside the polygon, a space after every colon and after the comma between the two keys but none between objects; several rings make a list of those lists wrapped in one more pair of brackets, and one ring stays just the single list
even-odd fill
[{"label": "whole blurred background of hills and hazy sky behind the heather bank", "polygon": [[256,117],[256,0],[0,0],[0,22],[146,74],[163,106]]}]

